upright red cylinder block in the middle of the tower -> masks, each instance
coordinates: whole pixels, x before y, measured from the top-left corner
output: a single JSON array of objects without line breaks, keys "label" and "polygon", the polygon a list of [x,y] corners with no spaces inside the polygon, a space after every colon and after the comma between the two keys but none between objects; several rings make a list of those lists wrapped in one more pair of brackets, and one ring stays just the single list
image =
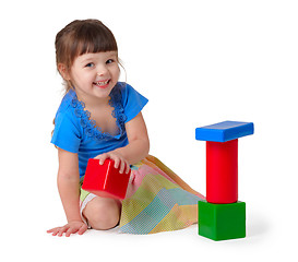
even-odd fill
[{"label": "upright red cylinder block in the middle of the tower", "polygon": [[238,140],[206,142],[206,201],[238,201]]}]

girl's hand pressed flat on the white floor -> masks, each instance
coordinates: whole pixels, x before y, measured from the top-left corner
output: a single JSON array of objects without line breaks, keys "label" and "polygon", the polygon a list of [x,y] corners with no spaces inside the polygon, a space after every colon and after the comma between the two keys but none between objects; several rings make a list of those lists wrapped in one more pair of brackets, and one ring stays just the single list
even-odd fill
[{"label": "girl's hand pressed flat on the white floor", "polygon": [[78,233],[79,235],[83,235],[87,230],[87,225],[82,221],[74,221],[68,223],[62,227],[55,227],[52,229],[47,230],[47,233],[51,233],[52,236],[62,237],[63,233],[65,233],[65,237],[69,237],[71,234]]}]

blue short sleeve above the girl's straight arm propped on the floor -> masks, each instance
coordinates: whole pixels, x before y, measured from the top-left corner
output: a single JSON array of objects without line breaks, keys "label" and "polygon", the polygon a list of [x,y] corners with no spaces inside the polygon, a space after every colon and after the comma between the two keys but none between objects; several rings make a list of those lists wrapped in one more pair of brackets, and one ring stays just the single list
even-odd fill
[{"label": "blue short sleeve above the girl's straight arm propped on the floor", "polygon": [[74,118],[71,117],[70,111],[57,114],[51,143],[71,153],[79,152],[81,143],[80,129],[78,128]]}]

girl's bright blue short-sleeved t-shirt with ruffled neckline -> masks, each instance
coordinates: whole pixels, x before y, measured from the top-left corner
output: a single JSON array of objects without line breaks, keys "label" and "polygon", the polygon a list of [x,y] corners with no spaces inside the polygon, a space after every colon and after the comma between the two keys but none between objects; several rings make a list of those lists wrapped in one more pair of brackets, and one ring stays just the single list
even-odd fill
[{"label": "girl's bright blue short-sleeved t-shirt with ruffled neckline", "polygon": [[64,151],[78,153],[82,177],[90,158],[128,145],[124,124],[136,117],[147,102],[147,98],[132,86],[118,82],[110,93],[109,100],[118,127],[118,133],[111,135],[95,127],[95,121],[90,119],[90,112],[84,110],[84,103],[79,102],[75,92],[70,90],[56,114],[51,143]]}]

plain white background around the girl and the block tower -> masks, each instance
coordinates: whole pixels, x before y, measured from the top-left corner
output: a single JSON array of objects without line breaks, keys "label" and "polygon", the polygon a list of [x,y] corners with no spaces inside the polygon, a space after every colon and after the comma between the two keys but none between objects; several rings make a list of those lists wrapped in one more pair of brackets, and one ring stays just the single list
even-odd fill
[{"label": "plain white background around the girl and the block tower", "polygon": [[[297,259],[298,2],[7,1],[0,7],[1,243],[5,261],[261,261]],[[62,97],[55,36],[75,19],[115,34],[143,110],[151,154],[205,194],[198,127],[252,121],[239,140],[247,238],[215,242],[198,226],[152,236],[94,231],[70,238],[49,143]],[[1,260],[2,260],[1,258]]]}]

